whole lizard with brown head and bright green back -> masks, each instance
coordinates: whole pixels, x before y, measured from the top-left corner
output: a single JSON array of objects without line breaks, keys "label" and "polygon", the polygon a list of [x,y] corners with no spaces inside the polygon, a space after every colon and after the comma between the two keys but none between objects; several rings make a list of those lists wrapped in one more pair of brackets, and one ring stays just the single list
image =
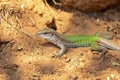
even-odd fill
[{"label": "whole lizard with brown head and bright green back", "polygon": [[120,51],[120,46],[100,37],[99,35],[62,35],[51,28],[43,28],[36,33],[61,48],[56,57],[63,55],[69,47],[91,47],[91,50],[99,51],[101,56],[108,50]]}]

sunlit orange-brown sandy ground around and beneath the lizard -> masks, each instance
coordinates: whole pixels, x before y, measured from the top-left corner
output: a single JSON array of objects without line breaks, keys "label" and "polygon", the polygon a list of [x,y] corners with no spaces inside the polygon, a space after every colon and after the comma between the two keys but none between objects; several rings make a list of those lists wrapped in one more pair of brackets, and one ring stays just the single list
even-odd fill
[{"label": "sunlit orange-brown sandy ground around and beneath the lizard", "polygon": [[120,80],[120,52],[109,50],[99,59],[89,47],[69,48],[53,58],[60,49],[35,36],[46,26],[61,34],[108,30],[120,45],[120,9],[84,13],[50,7],[42,0],[3,0],[0,5],[0,80]]}]

